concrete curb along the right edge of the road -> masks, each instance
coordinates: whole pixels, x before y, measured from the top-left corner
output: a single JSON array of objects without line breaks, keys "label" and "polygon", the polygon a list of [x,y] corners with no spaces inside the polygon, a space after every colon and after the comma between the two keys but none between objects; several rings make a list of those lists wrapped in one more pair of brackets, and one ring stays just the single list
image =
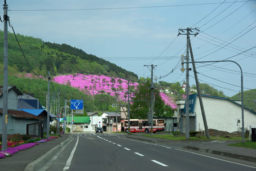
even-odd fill
[{"label": "concrete curb along the right edge of the road", "polygon": [[234,159],[239,159],[239,160],[245,160],[245,161],[250,161],[250,162],[256,162],[255,157],[251,156],[245,156],[245,155],[240,155],[240,154],[234,154],[231,152],[224,152],[224,151],[218,151],[218,150],[211,150],[211,149],[204,149],[200,147],[194,147],[194,146],[184,146],[184,149],[189,149],[189,150],[195,150],[195,151],[201,151],[201,152],[206,152],[210,154],[215,154],[215,155],[220,155],[220,156],[225,156],[228,158],[234,158]]}]

